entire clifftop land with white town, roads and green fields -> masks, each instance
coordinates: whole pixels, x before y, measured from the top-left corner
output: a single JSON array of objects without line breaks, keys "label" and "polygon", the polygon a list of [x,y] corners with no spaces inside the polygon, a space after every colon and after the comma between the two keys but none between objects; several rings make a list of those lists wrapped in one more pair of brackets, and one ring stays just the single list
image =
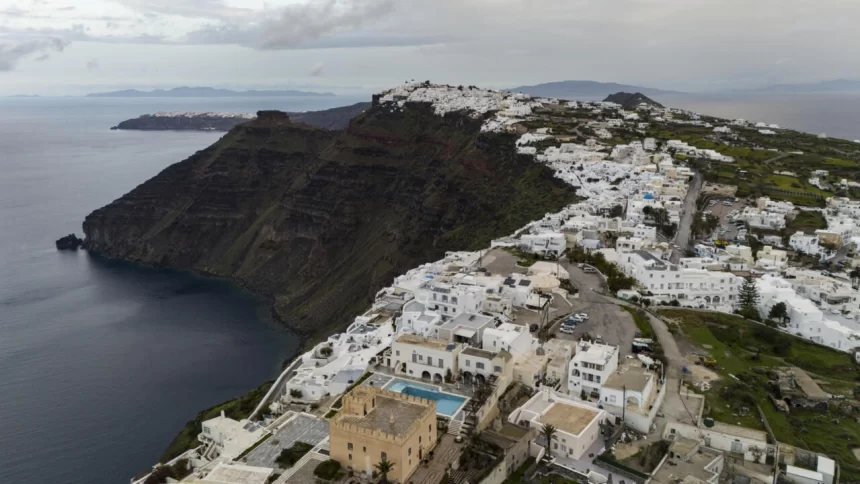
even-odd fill
[{"label": "entire clifftop land with white town, roads and green fields", "polygon": [[860,144],[616,99],[374,96],[576,200],[403,272],[132,482],[860,481]]}]

